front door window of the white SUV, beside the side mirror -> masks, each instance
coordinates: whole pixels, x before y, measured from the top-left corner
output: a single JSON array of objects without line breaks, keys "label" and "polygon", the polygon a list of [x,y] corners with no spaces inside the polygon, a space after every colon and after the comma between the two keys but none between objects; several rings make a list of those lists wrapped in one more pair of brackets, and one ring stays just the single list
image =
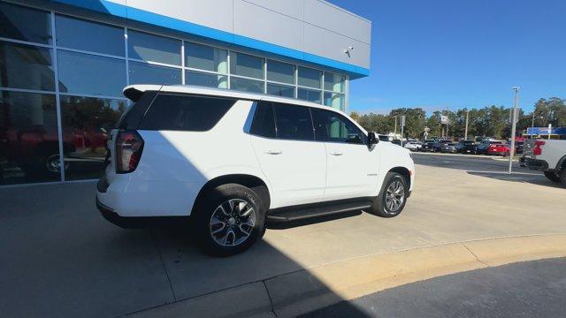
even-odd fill
[{"label": "front door window of the white SUV, beside the side mirror", "polygon": [[365,144],[365,134],[348,118],[321,109],[311,109],[317,140],[350,144]]}]

